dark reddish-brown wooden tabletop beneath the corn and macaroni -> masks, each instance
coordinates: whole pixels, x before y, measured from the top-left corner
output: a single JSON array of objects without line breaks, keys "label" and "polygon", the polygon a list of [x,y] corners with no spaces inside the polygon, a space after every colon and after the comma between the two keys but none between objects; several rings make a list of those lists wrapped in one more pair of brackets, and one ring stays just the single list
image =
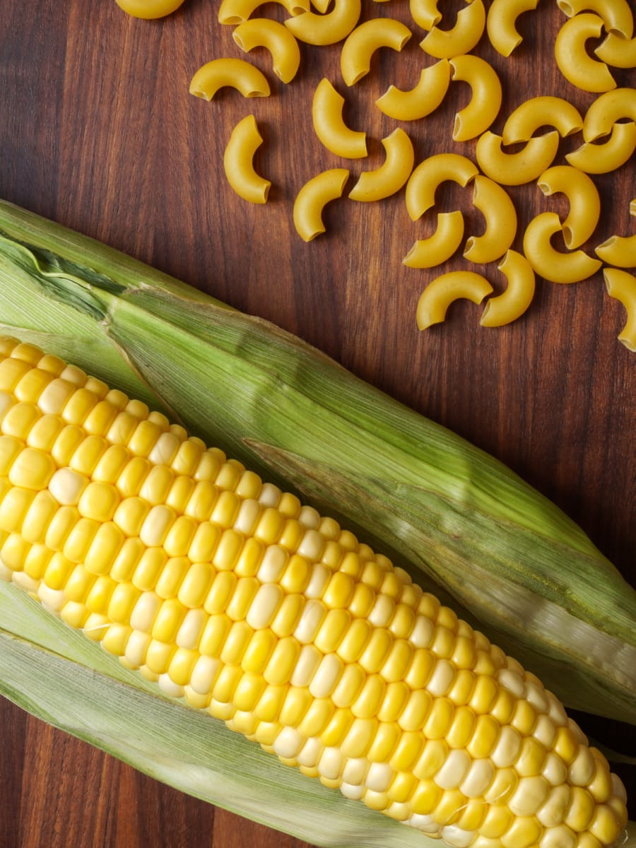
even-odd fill
[{"label": "dark reddish-brown wooden tabletop beneath the corn and macaroni", "polygon": [[[314,343],[504,460],[577,520],[636,583],[636,354],[616,341],[624,312],[607,297],[602,276],[572,286],[539,281],[527,315],[502,329],[481,328],[480,308],[462,302],[443,326],[421,333],[416,304],[432,273],[405,268],[401,259],[431,231],[410,221],[404,192],[379,204],[346,198],[331,204],[328,234],[309,245],[293,230],[293,197],[310,176],[348,166],[350,187],[360,170],[382,162],[379,139],[398,125],[373,101],[390,82],[413,86],[422,60],[432,64],[417,46],[424,33],[415,30],[403,53],[381,51],[371,75],[349,91],[339,75],[338,47],[303,47],[290,86],[276,80],[259,51],[250,58],[270,79],[271,98],[244,100],[226,90],[204,103],[188,94],[193,73],[209,59],[242,55],[232,28],[217,23],[218,3],[186,0],[176,14],[148,22],[131,19],[114,0],[0,5],[0,197]],[[460,6],[442,4],[449,24]],[[274,4],[263,11],[282,19]],[[410,21],[404,0],[365,0],[364,14]],[[555,3],[542,3],[523,16],[525,40],[512,59],[484,42],[477,48],[504,86],[494,131],[531,95],[560,94],[582,111],[593,99],[555,68],[552,47],[563,20]],[[345,163],[314,137],[310,103],[325,75],[346,92],[349,124],[369,132],[370,159]],[[634,85],[628,71],[617,80]],[[445,149],[471,155],[472,142],[450,141],[453,115],[467,99],[466,84],[451,84],[434,116],[403,125],[418,161]],[[233,195],[221,167],[232,126],[248,112],[265,138],[256,165],[273,182],[265,206]],[[559,160],[580,142],[578,136],[561,142]],[[597,184],[603,215],[592,244],[612,232],[633,232],[633,161]],[[566,210],[562,198],[544,198],[534,185],[511,193],[520,228],[538,211]],[[437,208],[464,209],[467,232],[480,232],[470,192],[449,191]],[[460,267],[460,256],[448,264]],[[503,287],[498,272],[492,279]],[[626,742],[624,728],[582,723],[616,745]],[[92,845],[301,843],[166,789],[0,702],[0,848]]]}]

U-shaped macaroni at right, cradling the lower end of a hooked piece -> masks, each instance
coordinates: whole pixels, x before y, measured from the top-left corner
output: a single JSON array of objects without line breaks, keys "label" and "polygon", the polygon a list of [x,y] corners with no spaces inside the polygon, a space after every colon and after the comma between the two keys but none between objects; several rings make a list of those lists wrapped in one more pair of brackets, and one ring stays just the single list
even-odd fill
[{"label": "U-shaped macaroni at right, cradling the lower end of a hooked piece", "polygon": [[581,282],[599,270],[602,262],[583,250],[564,254],[556,250],[550,239],[561,232],[561,220],[555,212],[542,212],[527,225],[523,236],[523,253],[539,276],[550,282]]}]

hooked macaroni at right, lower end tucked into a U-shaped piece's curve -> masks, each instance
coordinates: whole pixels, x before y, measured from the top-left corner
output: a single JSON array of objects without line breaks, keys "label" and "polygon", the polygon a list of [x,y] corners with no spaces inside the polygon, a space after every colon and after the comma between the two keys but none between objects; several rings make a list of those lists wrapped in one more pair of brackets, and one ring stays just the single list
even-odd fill
[{"label": "hooked macaroni at right, lower end tucked into a U-shaped piece's curve", "polygon": [[561,224],[563,241],[568,250],[580,248],[600,219],[600,195],[594,181],[572,165],[555,165],[539,176],[538,187],[546,197],[557,192],[566,195],[570,209]]}]

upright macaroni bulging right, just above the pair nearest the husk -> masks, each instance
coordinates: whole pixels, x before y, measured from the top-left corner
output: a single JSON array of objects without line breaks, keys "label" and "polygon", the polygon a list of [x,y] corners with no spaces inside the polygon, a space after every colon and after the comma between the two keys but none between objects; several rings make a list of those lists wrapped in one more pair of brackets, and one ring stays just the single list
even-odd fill
[{"label": "upright macaroni bulging right, just above the pair nearest the husk", "polygon": [[464,257],[485,265],[502,257],[515,239],[515,204],[505,188],[481,174],[472,183],[472,204],[486,219],[486,230],[468,238]]}]

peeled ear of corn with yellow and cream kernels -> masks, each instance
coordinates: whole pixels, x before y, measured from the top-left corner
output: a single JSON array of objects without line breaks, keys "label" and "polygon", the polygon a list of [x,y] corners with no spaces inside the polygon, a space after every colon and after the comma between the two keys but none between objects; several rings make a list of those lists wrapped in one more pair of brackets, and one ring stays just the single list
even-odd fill
[{"label": "peeled ear of corn with yellow and cream kernels", "polygon": [[0,577],[166,694],[455,848],[618,838],[555,696],[333,519],[14,339],[0,433]]}]

